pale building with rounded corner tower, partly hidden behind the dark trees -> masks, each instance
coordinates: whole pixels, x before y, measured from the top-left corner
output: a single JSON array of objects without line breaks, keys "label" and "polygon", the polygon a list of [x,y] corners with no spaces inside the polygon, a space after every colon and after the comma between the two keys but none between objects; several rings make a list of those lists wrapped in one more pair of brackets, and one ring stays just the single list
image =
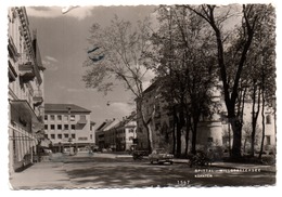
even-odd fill
[{"label": "pale building with rounded corner tower, partly hidden behind the dark trees", "polygon": [[[167,102],[159,96],[157,92],[158,83],[157,81],[152,83],[146,90],[143,92],[143,106],[142,113],[146,120],[152,118],[150,127],[152,129],[152,140],[154,144],[154,148],[167,148],[171,150],[174,143],[174,117],[168,111]],[[231,127],[227,120],[227,110],[223,103],[223,97],[220,93],[220,87],[215,87],[213,90],[211,101],[217,104],[219,107],[218,113],[214,113],[213,116],[208,118],[201,118],[201,121],[197,126],[197,136],[196,144],[200,147],[207,146],[231,146],[232,145],[232,133]],[[140,102],[137,100],[137,102]],[[261,110],[262,106],[260,106]],[[152,113],[154,110],[154,116],[152,117]],[[261,114],[261,113],[260,113]],[[247,132],[249,132],[251,122],[252,122],[252,103],[251,101],[245,101],[244,113],[243,113],[243,129],[242,129],[242,144],[243,146],[249,146],[249,137],[247,136]],[[258,132],[257,139],[261,139],[261,128],[262,128],[262,118],[258,117],[257,126]],[[265,106],[265,145],[264,148],[266,150],[273,149],[275,147],[275,111],[272,107]],[[185,131],[185,128],[183,128]],[[181,146],[182,150],[184,150],[185,145],[185,132],[182,132],[181,136]],[[189,139],[192,132],[190,132]],[[230,135],[230,136],[229,136]],[[248,134],[249,135],[249,134]],[[247,139],[248,137],[248,139]],[[139,149],[148,148],[148,133],[143,126],[141,119],[141,111],[137,110],[137,139]],[[231,139],[231,140],[230,140]],[[191,143],[190,143],[191,144]],[[260,146],[260,142],[257,142],[257,147]],[[243,147],[243,148],[244,148]]]}]

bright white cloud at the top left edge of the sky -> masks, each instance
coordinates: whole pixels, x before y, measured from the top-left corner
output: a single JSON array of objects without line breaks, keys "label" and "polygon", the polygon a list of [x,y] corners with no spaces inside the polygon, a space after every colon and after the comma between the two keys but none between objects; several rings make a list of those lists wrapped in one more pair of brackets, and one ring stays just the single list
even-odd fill
[{"label": "bright white cloud at the top left edge of the sky", "polygon": [[78,6],[69,12],[63,14],[61,6],[28,6],[27,14],[33,17],[44,17],[44,18],[55,18],[55,17],[74,17],[81,21],[88,16],[91,16],[93,9],[92,6]]}]

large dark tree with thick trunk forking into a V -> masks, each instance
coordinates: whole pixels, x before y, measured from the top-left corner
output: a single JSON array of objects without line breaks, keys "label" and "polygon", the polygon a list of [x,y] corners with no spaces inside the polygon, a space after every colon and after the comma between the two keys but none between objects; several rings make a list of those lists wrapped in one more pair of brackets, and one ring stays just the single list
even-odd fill
[{"label": "large dark tree with thick trunk forking into a V", "polygon": [[238,39],[233,42],[233,44],[238,47],[236,54],[234,54],[238,55],[238,61],[232,65],[234,71],[231,76],[229,75],[230,73],[228,73],[228,65],[226,62],[226,51],[228,50],[228,45],[225,45],[225,40],[228,39],[228,37],[223,37],[222,30],[223,22],[230,17],[230,10],[227,11],[227,14],[216,14],[216,11],[219,10],[216,5],[203,4],[195,8],[188,8],[204,18],[215,32],[218,68],[220,70],[220,79],[223,84],[223,95],[228,117],[233,131],[232,156],[234,158],[241,157],[242,119],[236,116],[235,105],[239,97],[240,79],[247,60],[247,53],[251,48],[257,24],[264,16],[265,8],[259,4],[242,5],[242,24],[239,29]]}]

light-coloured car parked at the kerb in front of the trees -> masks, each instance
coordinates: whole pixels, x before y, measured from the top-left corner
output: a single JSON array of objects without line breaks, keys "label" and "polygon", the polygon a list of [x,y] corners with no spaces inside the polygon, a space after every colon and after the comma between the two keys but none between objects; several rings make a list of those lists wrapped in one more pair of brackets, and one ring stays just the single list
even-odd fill
[{"label": "light-coloured car parked at the kerb in front of the trees", "polygon": [[174,163],[174,155],[168,154],[164,148],[154,149],[152,154],[149,155],[149,160],[151,163],[154,161],[157,163],[169,162]]}]

